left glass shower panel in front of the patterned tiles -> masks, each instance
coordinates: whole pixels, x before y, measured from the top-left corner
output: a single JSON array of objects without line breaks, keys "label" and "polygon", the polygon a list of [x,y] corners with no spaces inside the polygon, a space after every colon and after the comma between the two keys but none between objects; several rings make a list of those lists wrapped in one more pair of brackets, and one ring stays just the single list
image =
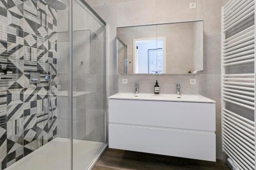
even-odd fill
[{"label": "left glass shower panel in front of the patterned tiles", "polygon": [[71,169],[71,6],[0,2],[0,169]]}]

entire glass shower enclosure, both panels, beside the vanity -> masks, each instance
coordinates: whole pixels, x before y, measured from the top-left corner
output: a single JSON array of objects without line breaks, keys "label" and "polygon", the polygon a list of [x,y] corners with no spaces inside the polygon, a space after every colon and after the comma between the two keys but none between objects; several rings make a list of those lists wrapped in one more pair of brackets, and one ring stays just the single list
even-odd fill
[{"label": "entire glass shower enclosure, both panels, beside the vanity", "polygon": [[91,169],[106,148],[106,24],[84,0],[0,0],[0,169]]}]

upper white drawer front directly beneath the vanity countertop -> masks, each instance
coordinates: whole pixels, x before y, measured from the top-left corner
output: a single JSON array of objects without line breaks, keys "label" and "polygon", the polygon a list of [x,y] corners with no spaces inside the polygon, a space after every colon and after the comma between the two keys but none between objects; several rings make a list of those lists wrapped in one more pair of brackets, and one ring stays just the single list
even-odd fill
[{"label": "upper white drawer front directly beneath the vanity countertop", "polygon": [[215,103],[109,100],[109,122],[216,131]]}]

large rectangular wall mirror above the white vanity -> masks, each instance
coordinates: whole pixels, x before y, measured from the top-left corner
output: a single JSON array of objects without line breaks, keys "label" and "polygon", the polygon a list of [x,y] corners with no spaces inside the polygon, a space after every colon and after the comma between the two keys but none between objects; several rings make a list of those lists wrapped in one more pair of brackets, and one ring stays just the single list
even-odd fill
[{"label": "large rectangular wall mirror above the white vanity", "polygon": [[117,28],[119,74],[203,71],[203,21]]}]

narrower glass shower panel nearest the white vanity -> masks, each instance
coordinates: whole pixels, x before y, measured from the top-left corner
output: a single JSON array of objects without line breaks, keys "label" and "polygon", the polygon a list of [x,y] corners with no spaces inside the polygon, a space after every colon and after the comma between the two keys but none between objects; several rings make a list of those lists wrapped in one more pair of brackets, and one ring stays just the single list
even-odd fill
[{"label": "narrower glass shower panel nearest the white vanity", "polygon": [[89,168],[105,147],[105,23],[73,0],[73,169]]}]

